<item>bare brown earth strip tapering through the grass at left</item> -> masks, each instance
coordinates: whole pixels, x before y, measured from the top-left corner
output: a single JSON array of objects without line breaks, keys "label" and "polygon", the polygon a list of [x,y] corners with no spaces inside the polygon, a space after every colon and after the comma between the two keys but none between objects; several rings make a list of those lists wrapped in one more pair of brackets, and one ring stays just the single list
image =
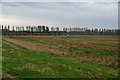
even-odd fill
[{"label": "bare brown earth strip tapering through the grass at left", "polygon": [[22,48],[26,48],[33,51],[46,51],[46,52],[52,52],[52,53],[60,53],[60,54],[67,54],[66,51],[61,50],[60,48],[44,45],[44,44],[38,44],[38,43],[31,43],[27,41],[21,41],[16,39],[10,39],[10,38],[4,38],[4,40],[15,43],[17,45],[20,45]]}]

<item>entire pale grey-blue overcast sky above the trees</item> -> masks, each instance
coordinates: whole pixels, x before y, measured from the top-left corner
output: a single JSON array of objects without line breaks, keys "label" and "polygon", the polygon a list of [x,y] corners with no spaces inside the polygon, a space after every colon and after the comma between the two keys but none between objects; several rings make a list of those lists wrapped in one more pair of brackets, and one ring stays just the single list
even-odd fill
[{"label": "entire pale grey-blue overcast sky above the trees", "polygon": [[0,7],[4,25],[118,28],[117,1],[2,2]]}]

